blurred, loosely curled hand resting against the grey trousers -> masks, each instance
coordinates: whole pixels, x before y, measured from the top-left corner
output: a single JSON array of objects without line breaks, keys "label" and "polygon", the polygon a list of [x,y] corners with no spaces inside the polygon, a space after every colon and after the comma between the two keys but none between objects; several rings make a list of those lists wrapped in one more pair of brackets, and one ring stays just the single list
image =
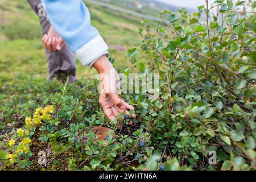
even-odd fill
[{"label": "blurred, loosely curled hand resting against the grey trousers", "polygon": [[47,34],[44,34],[42,41],[49,52],[60,51],[66,45],[64,39],[57,34],[53,26],[49,28]]}]

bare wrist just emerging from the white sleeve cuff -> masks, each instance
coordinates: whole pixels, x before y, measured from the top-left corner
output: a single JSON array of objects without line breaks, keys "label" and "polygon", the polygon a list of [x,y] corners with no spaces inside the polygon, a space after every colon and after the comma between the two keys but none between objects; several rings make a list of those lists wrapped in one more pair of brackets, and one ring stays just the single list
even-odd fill
[{"label": "bare wrist just emerging from the white sleeve cuff", "polygon": [[101,56],[97,61],[95,61],[93,67],[98,73],[107,73],[110,71],[110,69],[114,69],[113,65],[106,56]]}]

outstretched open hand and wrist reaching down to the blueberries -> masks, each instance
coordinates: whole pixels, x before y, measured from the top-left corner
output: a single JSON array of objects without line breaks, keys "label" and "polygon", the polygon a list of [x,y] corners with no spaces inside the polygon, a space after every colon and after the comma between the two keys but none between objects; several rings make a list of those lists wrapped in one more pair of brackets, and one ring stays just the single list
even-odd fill
[{"label": "outstretched open hand and wrist reaching down to the blueberries", "polygon": [[[116,115],[123,113],[123,111],[125,111],[127,115],[130,115],[128,110],[134,110],[134,107],[127,104],[127,102],[118,96],[118,73],[115,71],[107,57],[102,56],[93,64],[93,66],[97,69],[98,73],[100,73],[101,93],[99,103],[106,117],[108,117],[110,121],[114,121]],[[131,118],[135,117],[135,114],[131,115]]]}]

